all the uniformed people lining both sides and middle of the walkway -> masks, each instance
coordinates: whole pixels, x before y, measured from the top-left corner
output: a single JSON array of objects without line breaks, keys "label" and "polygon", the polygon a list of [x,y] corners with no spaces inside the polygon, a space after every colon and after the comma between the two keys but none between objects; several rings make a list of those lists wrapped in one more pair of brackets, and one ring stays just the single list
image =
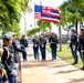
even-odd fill
[{"label": "all the uniformed people lining both sides and middle of the walkway", "polygon": [[[0,83],[18,83],[18,66],[19,66],[19,52],[22,53],[23,61],[27,61],[27,48],[28,48],[28,40],[25,35],[22,35],[20,39],[20,46],[17,44],[17,34],[15,33],[6,33],[2,37],[3,44],[0,45]],[[33,40],[33,55],[34,60],[40,60],[41,52],[41,60],[46,60],[46,40],[43,34],[40,38],[34,37]],[[51,48],[52,60],[56,60],[56,51],[57,51],[57,35],[55,33],[51,33],[49,37],[49,44]],[[80,56],[83,62],[84,70],[84,29],[81,29],[81,34],[77,38],[76,31],[71,31],[71,43],[69,45],[71,48],[71,53],[73,55],[74,62],[72,63],[77,64],[78,56],[77,51],[80,52]]]}]

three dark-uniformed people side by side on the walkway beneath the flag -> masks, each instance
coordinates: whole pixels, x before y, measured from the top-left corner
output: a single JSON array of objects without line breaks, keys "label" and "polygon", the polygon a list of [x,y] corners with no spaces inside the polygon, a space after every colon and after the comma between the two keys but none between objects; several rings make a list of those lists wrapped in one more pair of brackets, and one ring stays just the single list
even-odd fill
[{"label": "three dark-uniformed people side by side on the walkway beneath the flag", "polygon": [[[44,35],[41,34],[40,38],[34,37],[33,40],[33,53],[34,53],[34,59],[35,60],[40,60],[39,59],[39,51],[41,52],[41,58],[42,61],[46,60],[46,40],[44,39]],[[52,53],[52,60],[56,59],[56,49],[57,49],[57,35],[55,33],[51,33],[49,37],[49,43],[50,43],[50,48],[51,48],[51,53]]]}]

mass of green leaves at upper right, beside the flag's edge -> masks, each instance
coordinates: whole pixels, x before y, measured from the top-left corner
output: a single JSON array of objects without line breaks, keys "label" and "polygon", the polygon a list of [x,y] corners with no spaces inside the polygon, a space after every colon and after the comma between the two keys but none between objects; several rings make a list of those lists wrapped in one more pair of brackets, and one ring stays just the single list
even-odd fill
[{"label": "mass of green leaves at upper right, beside the flag's edge", "polygon": [[84,0],[67,0],[64,1],[59,8],[61,10],[61,25],[65,25],[67,22],[75,24],[76,19],[78,22],[83,21]]}]

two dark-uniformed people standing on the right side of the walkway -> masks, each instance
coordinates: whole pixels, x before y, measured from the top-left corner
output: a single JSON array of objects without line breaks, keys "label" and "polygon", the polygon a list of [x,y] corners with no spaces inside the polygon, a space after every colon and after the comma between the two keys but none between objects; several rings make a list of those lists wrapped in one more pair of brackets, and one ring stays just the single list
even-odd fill
[{"label": "two dark-uniformed people standing on the right side of the walkway", "polygon": [[84,29],[81,29],[80,37],[77,38],[76,31],[72,30],[71,31],[71,53],[73,55],[74,62],[72,63],[77,64],[78,62],[78,55],[77,51],[80,52],[80,56],[83,63],[82,70],[84,70]]}]

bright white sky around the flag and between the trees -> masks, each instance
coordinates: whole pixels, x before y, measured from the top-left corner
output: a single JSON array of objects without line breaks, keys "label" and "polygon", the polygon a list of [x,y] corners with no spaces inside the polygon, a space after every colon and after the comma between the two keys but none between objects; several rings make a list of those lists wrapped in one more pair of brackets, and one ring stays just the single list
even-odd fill
[{"label": "bright white sky around the flag and between the trees", "polygon": [[[42,6],[49,6],[49,7],[53,7],[53,8],[57,8],[59,6],[61,6],[61,3],[63,3],[63,1],[65,0],[30,0],[29,6],[33,9],[33,11],[31,13],[25,13],[25,21],[24,21],[24,14],[22,14],[21,18],[21,22],[20,22],[20,28],[21,28],[21,32],[24,34],[24,32],[27,30],[31,30],[32,28],[34,28],[34,3],[35,4],[40,4],[42,3]],[[30,27],[30,24],[32,27]],[[52,25],[52,32],[59,33],[59,28],[56,25]],[[63,33],[66,33],[65,31],[62,30]]]}]

